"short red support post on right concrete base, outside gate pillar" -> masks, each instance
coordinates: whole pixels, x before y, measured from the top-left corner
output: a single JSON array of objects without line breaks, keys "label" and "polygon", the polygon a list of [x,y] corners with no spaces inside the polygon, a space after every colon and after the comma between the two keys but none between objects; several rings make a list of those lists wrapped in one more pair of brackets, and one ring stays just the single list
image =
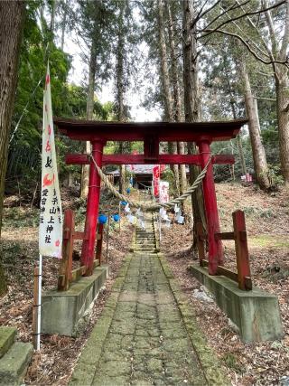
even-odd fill
[{"label": "short red support post on right concrete base, outside gate pillar", "polygon": [[249,254],[247,249],[247,231],[245,214],[243,211],[236,211],[232,213],[234,225],[234,237],[237,256],[238,269],[238,287],[240,289],[252,289],[247,286],[249,278],[251,277]]}]

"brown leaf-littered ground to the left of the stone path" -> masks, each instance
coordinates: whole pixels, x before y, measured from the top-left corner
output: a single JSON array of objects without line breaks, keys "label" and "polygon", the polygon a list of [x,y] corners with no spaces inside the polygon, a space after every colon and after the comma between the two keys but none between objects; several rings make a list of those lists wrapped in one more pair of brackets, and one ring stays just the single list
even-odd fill
[{"label": "brown leaf-littered ground to the left of the stone path", "polygon": [[[103,194],[104,195],[104,194]],[[83,229],[85,207],[70,191],[61,193],[64,209],[73,208],[79,231]],[[14,206],[16,202],[17,206]],[[104,200],[100,205],[106,207],[111,200]],[[24,202],[19,206],[17,197],[5,200],[4,226],[1,234],[1,254],[8,279],[8,293],[0,299],[0,325],[12,325],[17,328],[17,340],[32,342],[33,316],[33,267],[38,265],[38,219],[39,210]],[[33,361],[28,369],[25,384],[65,385],[70,380],[71,372],[77,362],[80,350],[87,341],[110,294],[117,277],[122,259],[126,256],[132,240],[133,227],[123,221],[121,231],[112,221],[108,243],[109,277],[105,289],[100,292],[93,307],[89,325],[78,338],[58,334],[42,334],[40,353],[33,354]],[[106,262],[106,234],[104,235],[102,260]],[[75,241],[73,266],[79,267],[81,244]],[[49,290],[57,286],[59,262],[53,258],[43,258],[42,288]]]}]

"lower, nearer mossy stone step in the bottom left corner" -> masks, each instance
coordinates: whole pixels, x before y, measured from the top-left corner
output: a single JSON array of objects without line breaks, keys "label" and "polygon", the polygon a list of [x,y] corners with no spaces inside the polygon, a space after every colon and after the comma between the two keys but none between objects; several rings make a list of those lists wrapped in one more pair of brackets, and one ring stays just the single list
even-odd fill
[{"label": "lower, nearer mossy stone step in the bottom left corner", "polygon": [[15,342],[0,360],[0,386],[21,384],[32,355],[32,344]]}]

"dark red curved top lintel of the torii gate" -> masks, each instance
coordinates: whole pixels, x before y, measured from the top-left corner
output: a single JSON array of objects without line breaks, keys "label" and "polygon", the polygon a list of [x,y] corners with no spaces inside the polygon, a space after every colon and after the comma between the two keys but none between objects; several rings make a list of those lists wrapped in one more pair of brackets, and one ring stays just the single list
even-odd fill
[{"label": "dark red curved top lintel of the torii gate", "polygon": [[71,139],[82,141],[224,141],[237,136],[247,119],[213,122],[102,122],[54,118]]}]

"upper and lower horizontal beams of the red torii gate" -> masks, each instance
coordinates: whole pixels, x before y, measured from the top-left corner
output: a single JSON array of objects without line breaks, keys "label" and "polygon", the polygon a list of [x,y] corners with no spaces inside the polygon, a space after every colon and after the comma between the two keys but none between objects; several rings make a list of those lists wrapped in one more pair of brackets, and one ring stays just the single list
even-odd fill
[{"label": "upper and lower horizontal beams of the red torii gate", "polygon": [[[103,155],[102,165],[119,164],[194,164],[200,165],[199,155],[160,155],[161,141],[226,141],[237,136],[247,120],[223,122],[99,122],[82,119],[55,118],[61,132],[80,141],[144,141],[144,155]],[[89,164],[85,155],[67,155],[68,164]],[[213,164],[232,164],[231,155],[216,155]]]}]

